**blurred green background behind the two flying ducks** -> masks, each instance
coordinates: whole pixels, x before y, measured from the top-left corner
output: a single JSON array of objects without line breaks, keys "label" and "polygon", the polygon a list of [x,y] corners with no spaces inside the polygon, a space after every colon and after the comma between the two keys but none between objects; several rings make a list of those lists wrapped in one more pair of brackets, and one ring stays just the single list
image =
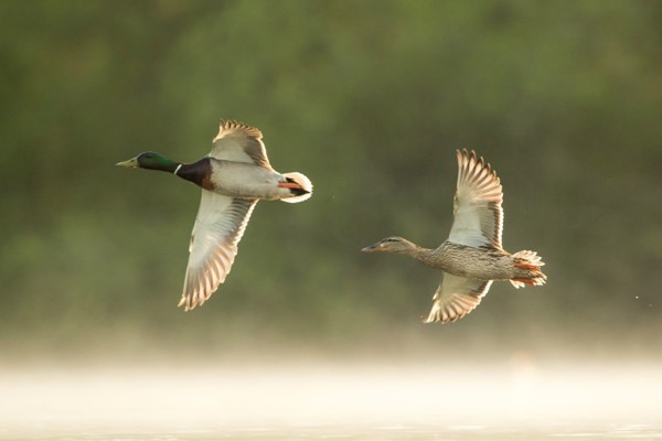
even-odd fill
[{"label": "blurred green background behind the two flying ducks", "polygon": [[[661,29],[659,1],[0,2],[2,359],[659,359]],[[260,203],[184,313],[200,191],[114,164],[194,161],[221,118],[316,193]],[[504,246],[548,283],[423,325],[439,275],[360,249],[447,237],[456,148],[495,168]]]}]

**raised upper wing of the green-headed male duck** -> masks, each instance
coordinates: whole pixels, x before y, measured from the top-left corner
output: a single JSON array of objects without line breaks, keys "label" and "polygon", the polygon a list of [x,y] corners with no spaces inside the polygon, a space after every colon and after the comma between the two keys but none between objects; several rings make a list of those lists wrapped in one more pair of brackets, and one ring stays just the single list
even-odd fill
[{"label": "raised upper wing of the green-headed male duck", "polygon": [[270,168],[261,132],[237,121],[221,121],[210,157]]}]

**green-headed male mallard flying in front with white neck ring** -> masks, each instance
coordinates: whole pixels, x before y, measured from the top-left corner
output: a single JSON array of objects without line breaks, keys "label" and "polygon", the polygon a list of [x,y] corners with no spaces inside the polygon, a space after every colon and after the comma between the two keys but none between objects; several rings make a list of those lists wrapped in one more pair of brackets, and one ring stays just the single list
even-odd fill
[{"label": "green-headed male mallard flying in front with white neck ring", "polygon": [[225,281],[257,201],[295,203],[312,194],[312,184],[303,174],[281,174],[271,168],[258,129],[222,121],[213,143],[209,155],[190,164],[153,152],[117,164],[160,170],[202,187],[179,303],[186,311],[204,303]]}]

